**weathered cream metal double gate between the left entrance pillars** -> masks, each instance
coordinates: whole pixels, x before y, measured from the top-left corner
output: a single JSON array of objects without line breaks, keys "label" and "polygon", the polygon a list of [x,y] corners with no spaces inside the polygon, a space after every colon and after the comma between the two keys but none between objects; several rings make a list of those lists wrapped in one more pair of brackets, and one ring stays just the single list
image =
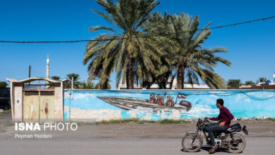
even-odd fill
[{"label": "weathered cream metal double gate between the left entrance pillars", "polygon": [[49,85],[24,85],[23,121],[54,122],[54,89]]}]

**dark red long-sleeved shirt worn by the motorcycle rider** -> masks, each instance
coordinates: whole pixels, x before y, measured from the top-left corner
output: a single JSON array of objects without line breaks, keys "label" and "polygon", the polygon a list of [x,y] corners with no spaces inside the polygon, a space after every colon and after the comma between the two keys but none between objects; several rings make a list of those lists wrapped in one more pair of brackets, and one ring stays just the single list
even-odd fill
[{"label": "dark red long-sleeved shirt worn by the motorcycle rider", "polygon": [[219,109],[219,116],[216,118],[209,118],[210,120],[219,120],[219,123],[226,122],[226,127],[229,128],[231,120],[233,120],[234,116],[232,113],[226,109],[226,107],[222,106],[221,109]]}]

